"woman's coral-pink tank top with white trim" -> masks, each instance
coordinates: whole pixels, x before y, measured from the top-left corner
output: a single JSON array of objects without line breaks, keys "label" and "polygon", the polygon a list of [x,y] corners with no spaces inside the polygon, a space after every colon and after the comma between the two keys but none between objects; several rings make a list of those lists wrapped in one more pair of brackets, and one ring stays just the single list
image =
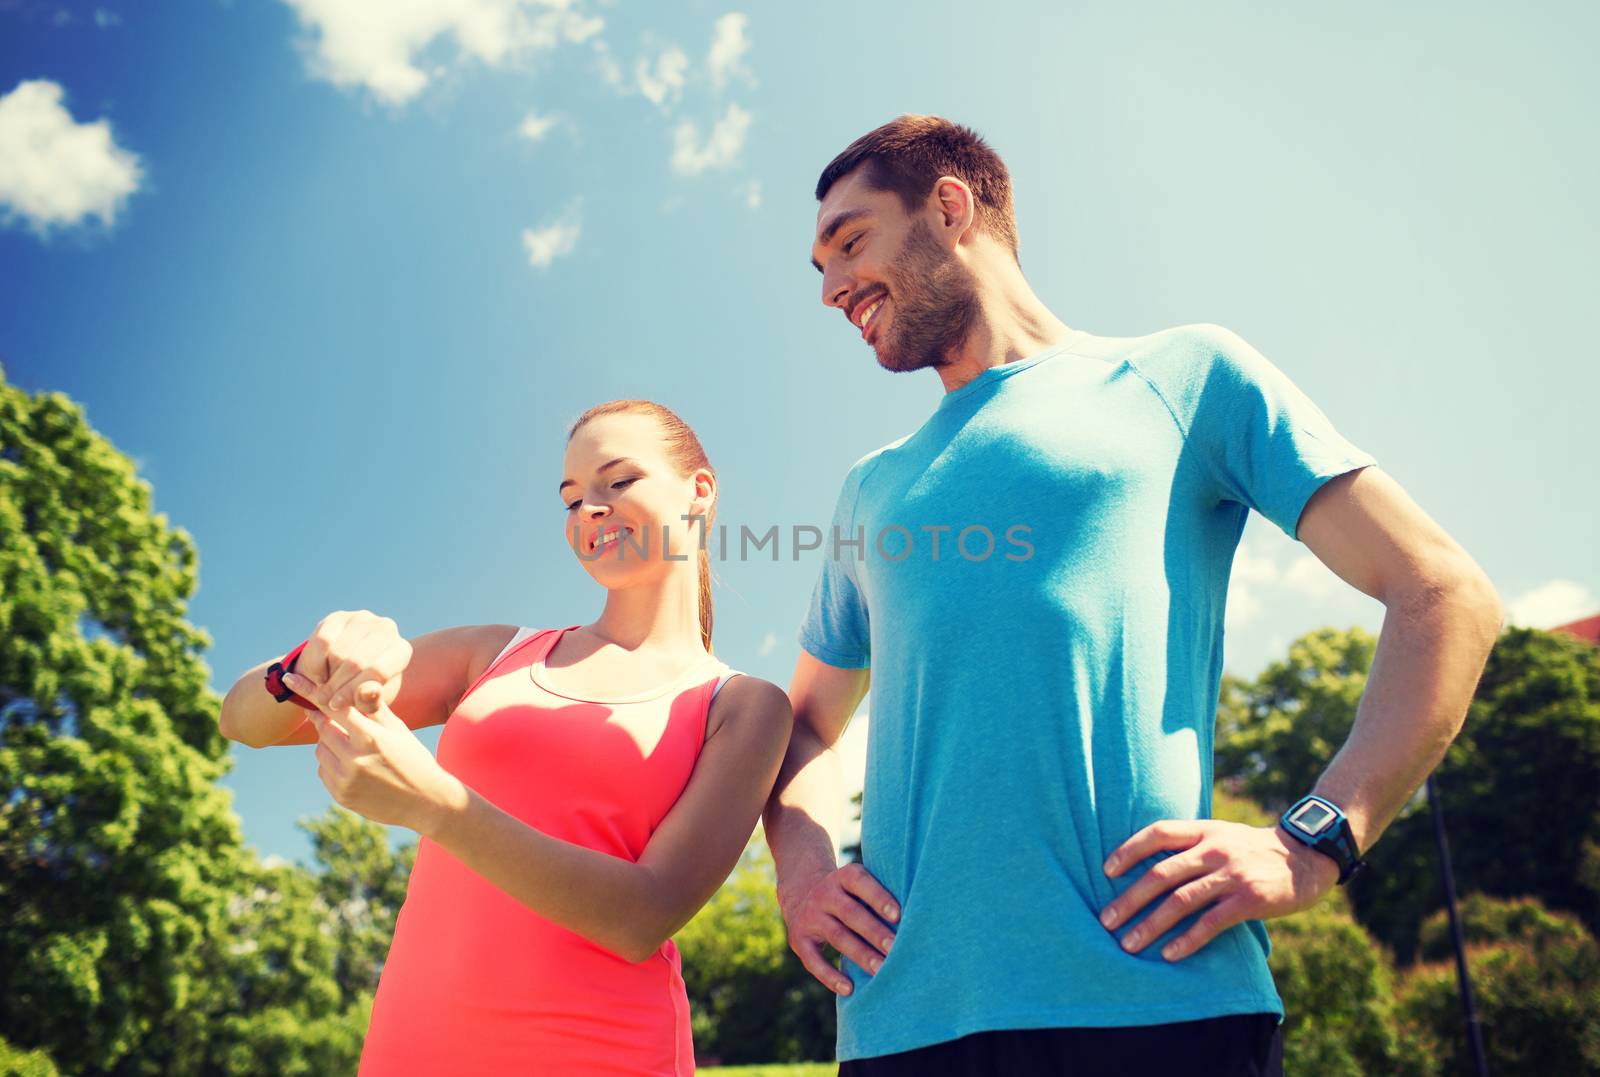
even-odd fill
[{"label": "woman's coral-pink tank top with white trim", "polygon": [[[438,762],[528,826],[637,861],[688,784],[730,671],[707,658],[648,693],[574,699],[542,674],[570,631],[514,639],[451,712]],[[627,962],[419,840],[360,1077],[693,1072],[670,939]]]}]

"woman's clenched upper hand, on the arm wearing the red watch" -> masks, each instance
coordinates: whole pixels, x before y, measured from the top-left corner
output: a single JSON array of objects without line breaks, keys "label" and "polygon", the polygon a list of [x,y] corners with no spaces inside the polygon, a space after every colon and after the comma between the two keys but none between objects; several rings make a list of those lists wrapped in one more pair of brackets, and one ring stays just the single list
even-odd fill
[{"label": "woman's clenched upper hand, on the arm wearing the red watch", "polygon": [[338,714],[354,706],[376,715],[400,693],[400,672],[410,663],[411,643],[390,618],[371,610],[334,610],[317,624],[294,663],[312,691],[290,687],[323,711]]}]

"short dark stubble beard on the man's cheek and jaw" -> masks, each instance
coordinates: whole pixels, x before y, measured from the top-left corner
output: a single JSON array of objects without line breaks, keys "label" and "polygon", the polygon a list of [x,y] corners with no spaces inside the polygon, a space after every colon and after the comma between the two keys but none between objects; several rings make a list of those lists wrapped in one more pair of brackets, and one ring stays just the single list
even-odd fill
[{"label": "short dark stubble beard on the man's cheek and jaw", "polygon": [[944,366],[978,325],[971,272],[939,245],[926,221],[917,221],[886,275],[894,322],[878,341],[878,365],[896,373]]}]

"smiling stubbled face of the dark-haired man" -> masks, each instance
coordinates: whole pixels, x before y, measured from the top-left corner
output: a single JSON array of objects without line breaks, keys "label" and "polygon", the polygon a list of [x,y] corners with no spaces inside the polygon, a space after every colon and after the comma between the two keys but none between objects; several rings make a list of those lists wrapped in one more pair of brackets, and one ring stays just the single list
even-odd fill
[{"label": "smiling stubbled face of the dark-haired man", "polygon": [[[816,214],[811,264],[885,370],[941,366],[971,331],[976,282],[934,234],[936,206],[907,213],[867,182],[870,163],[835,182]],[[931,203],[931,198],[930,198]]]}]

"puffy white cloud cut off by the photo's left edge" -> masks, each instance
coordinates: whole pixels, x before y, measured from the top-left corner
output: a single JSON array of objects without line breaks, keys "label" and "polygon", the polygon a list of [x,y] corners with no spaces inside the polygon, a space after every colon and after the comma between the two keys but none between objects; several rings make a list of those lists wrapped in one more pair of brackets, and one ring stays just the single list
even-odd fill
[{"label": "puffy white cloud cut off by the photo's left edge", "polygon": [[139,157],[112,139],[110,123],[78,123],[48,80],[0,98],[0,216],[45,234],[96,216],[115,222],[139,189]]}]

